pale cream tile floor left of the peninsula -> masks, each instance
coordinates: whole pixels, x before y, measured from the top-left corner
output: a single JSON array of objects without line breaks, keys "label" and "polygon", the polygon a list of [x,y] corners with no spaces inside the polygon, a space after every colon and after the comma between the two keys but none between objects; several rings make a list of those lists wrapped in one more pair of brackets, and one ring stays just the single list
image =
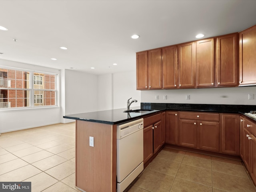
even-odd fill
[{"label": "pale cream tile floor left of the peninsula", "polygon": [[32,192],[77,192],[75,123],[2,133],[0,181],[32,182]]}]

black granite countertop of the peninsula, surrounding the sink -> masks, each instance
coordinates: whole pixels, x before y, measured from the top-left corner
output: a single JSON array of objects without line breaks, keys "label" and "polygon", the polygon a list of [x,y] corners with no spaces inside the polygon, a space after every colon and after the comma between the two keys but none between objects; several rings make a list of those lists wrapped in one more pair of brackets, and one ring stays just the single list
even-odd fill
[{"label": "black granite countertop of the peninsula, surrounding the sink", "polygon": [[[130,109],[136,110],[136,109],[140,109],[140,107],[131,107]],[[71,114],[71,115],[65,115],[63,116],[63,118],[98,122],[98,123],[105,123],[105,124],[120,124],[120,123],[128,122],[130,120],[143,118],[144,116],[147,116],[149,114],[155,114],[160,111],[160,110],[152,110],[150,112],[142,112],[142,113],[127,113],[127,112],[124,112],[124,110],[126,110],[126,108],[80,113],[80,114]]]}]

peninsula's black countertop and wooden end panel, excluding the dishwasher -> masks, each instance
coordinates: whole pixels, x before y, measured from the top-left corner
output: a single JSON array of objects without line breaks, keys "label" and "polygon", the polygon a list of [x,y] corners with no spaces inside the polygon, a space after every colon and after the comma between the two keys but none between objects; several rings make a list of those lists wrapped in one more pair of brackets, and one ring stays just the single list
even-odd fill
[{"label": "peninsula's black countertop and wooden end panel, excluding the dishwasher", "polygon": [[[159,111],[128,113],[124,110],[126,109],[64,116],[76,120],[75,186],[78,189],[86,192],[116,192],[116,125]],[[90,136],[94,138],[94,147],[89,146]]]}]

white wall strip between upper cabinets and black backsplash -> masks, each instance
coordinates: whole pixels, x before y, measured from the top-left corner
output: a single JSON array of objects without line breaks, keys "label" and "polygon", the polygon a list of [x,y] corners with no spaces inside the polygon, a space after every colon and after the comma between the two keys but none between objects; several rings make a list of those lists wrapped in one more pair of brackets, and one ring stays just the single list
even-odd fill
[{"label": "white wall strip between upper cabinets and black backsplash", "polygon": [[[248,94],[254,94],[248,100]],[[158,95],[158,100],[155,96]],[[163,96],[167,95],[167,100]],[[190,95],[190,100],[186,100]],[[141,91],[141,102],[256,105],[256,86]]]}]

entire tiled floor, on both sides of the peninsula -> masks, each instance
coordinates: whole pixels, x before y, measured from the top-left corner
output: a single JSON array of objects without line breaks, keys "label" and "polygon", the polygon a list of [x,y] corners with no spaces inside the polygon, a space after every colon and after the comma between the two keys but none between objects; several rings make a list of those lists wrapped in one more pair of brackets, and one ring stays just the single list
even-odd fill
[{"label": "entire tiled floor, on both sides of the peninsula", "polygon": [[[77,192],[75,124],[0,136],[0,181],[32,182],[32,192]],[[256,192],[242,162],[164,148],[129,192]]]}]

